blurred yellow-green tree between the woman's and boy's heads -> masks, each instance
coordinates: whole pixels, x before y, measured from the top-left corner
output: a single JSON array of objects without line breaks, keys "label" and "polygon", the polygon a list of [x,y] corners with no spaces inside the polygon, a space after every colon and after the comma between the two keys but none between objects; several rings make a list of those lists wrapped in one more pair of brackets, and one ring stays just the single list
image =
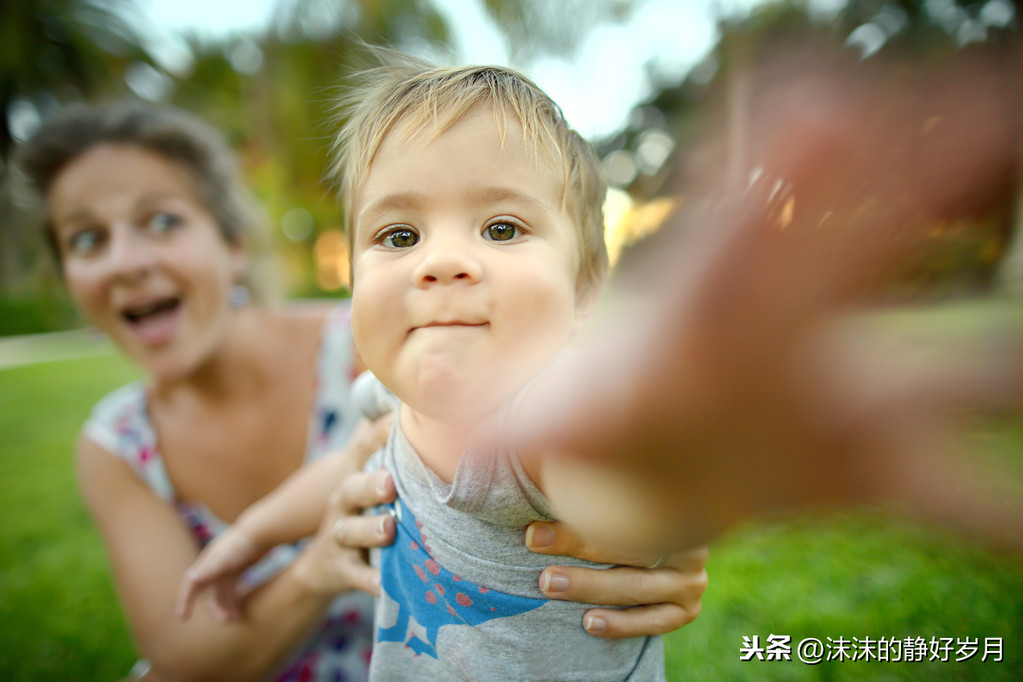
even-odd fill
[{"label": "blurred yellow-green tree between the woman's and boy's heads", "polygon": [[[232,134],[271,217],[293,294],[323,292],[312,245],[341,224],[323,170],[333,128],[341,123],[332,107],[344,75],[365,58],[364,43],[431,54],[447,49],[449,41],[444,18],[421,1],[283,0],[273,26],[258,40],[235,38],[197,56],[175,101]],[[258,54],[259,65],[237,73],[243,65],[239,51]],[[209,95],[211,80],[222,84],[219,102]],[[304,226],[283,229],[287,215],[305,216]]]}]

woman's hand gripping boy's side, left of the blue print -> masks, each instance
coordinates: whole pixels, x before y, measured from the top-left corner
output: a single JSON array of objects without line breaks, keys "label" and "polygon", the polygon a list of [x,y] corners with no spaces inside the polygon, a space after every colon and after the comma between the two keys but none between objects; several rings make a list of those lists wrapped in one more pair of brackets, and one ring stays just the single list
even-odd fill
[{"label": "woman's hand gripping boy's side, left of the blue print", "polygon": [[350,473],[341,482],[319,531],[296,561],[297,575],[309,589],[336,594],[354,588],[380,594],[380,571],[366,561],[365,549],[394,542],[394,519],[360,514],[397,497],[394,479],[386,470]]}]

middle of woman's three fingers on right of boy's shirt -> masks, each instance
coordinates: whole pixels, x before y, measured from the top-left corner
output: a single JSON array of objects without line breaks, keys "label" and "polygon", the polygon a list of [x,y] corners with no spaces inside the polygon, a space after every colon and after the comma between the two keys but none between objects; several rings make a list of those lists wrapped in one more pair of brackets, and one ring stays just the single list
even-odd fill
[{"label": "middle of woman's three fingers on right of boy's shirt", "polygon": [[614,606],[680,601],[686,590],[703,593],[706,575],[691,577],[675,569],[583,569],[547,566],[540,574],[540,591],[551,599]]}]

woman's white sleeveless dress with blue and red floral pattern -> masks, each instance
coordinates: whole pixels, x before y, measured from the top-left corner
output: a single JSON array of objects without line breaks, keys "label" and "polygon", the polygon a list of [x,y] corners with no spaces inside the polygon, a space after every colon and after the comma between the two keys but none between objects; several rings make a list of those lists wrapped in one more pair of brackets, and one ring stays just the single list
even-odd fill
[{"label": "woman's white sleeveless dress with blue and red floral pattern", "polygon": [[[343,446],[358,420],[359,412],[351,397],[353,358],[349,309],[341,305],[331,312],[320,340],[306,462]],[[125,460],[160,499],[173,505],[199,547],[227,528],[205,505],[182,500],[175,492],[160,454],[141,381],[122,387],[99,401],[86,421],[85,433]],[[298,545],[276,547],[246,574],[244,580],[254,585],[269,580],[298,551]],[[306,648],[275,679],[282,682],[366,679],[372,650],[372,613],[369,595],[352,592],[339,596]],[[139,662],[134,672],[147,667],[145,662]]]}]

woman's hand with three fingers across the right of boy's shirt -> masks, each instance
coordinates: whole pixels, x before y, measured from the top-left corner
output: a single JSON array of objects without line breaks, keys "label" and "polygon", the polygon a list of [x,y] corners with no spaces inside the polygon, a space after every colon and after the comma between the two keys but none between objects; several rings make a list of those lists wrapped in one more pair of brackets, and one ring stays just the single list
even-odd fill
[{"label": "woman's hand with three fingers across the right of boy's shirt", "polygon": [[613,552],[594,547],[558,521],[530,524],[526,547],[539,554],[622,564],[609,570],[553,565],[540,574],[540,590],[551,599],[627,606],[586,611],[583,628],[595,637],[661,635],[700,615],[707,589],[706,547],[668,557]]}]

